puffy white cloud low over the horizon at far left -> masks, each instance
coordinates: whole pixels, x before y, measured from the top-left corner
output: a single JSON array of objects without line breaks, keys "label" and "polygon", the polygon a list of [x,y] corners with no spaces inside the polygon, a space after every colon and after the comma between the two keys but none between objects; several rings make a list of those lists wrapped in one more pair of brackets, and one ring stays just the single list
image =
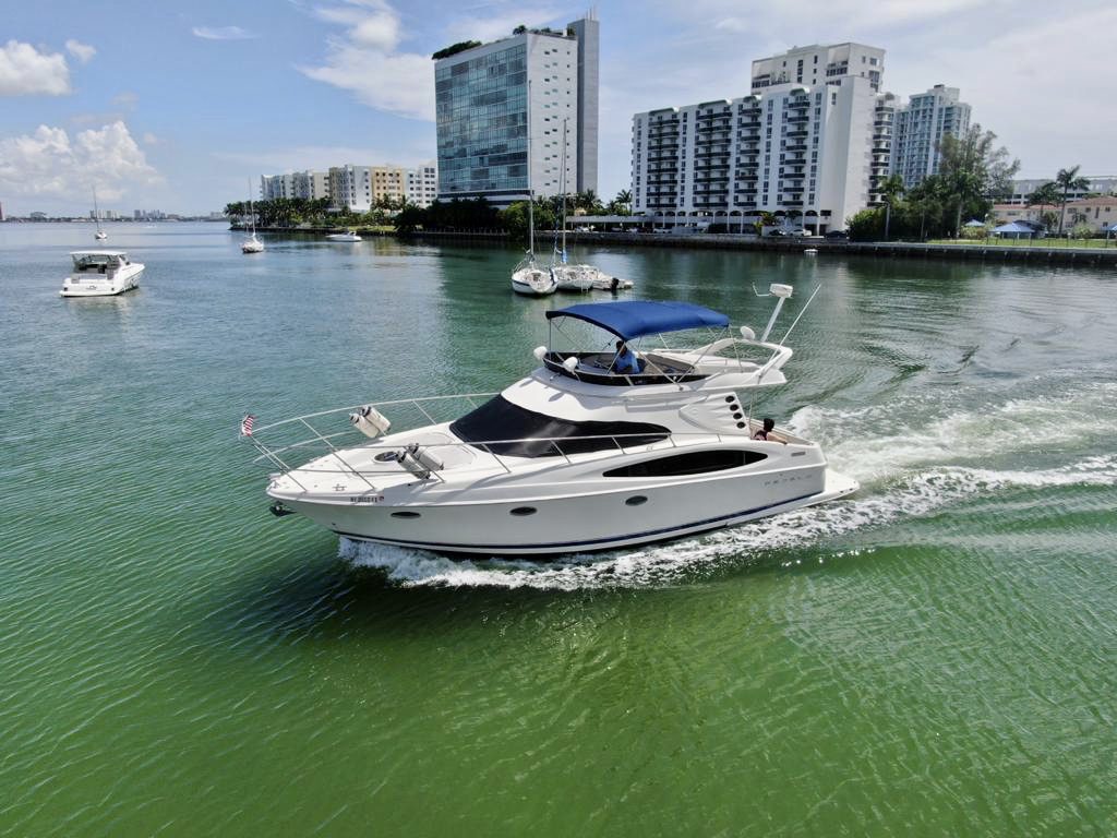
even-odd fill
[{"label": "puffy white cloud low over the horizon at far left", "polygon": [[0,189],[9,194],[73,199],[96,187],[113,201],[130,185],[161,182],[123,122],[80,131],[73,141],[65,128],[47,125],[0,139]]}]

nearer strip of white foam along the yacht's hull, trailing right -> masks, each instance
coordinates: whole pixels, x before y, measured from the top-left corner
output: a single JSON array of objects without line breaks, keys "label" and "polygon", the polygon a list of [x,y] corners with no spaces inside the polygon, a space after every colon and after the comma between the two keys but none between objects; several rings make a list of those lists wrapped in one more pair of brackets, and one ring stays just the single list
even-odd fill
[{"label": "nearer strip of white foam along the yacht's hull, trailing right", "polygon": [[[343,539],[340,556],[373,568],[401,585],[499,587],[575,590],[672,584],[726,564],[810,546],[858,530],[928,515],[966,497],[1011,487],[1117,483],[1117,456],[1090,457],[1038,472],[937,467],[890,480],[878,494],[796,510],[752,524],[648,547],[554,562],[451,560],[435,553]],[[843,547],[842,547],[843,549]],[[841,552],[839,549],[838,552]]]}]

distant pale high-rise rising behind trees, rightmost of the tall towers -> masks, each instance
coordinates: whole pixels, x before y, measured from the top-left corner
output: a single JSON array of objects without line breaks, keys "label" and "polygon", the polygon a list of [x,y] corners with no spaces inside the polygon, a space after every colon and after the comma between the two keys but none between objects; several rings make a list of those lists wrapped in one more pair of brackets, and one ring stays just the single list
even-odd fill
[{"label": "distant pale high-rise rising behind trees, rightmost of the tall towers", "polygon": [[938,172],[939,143],[946,134],[961,136],[970,127],[970,105],[958,101],[957,87],[935,85],[896,108],[891,171],[914,187]]}]

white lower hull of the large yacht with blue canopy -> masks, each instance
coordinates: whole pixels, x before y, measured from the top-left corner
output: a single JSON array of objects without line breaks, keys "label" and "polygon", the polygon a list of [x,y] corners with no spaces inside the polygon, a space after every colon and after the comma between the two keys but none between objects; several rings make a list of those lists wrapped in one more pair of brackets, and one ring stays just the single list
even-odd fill
[{"label": "white lower hull of the large yacht with blue canopy", "polygon": [[820,465],[540,499],[381,505],[376,495],[332,503],[288,496],[283,506],[357,541],[542,556],[670,541],[833,501],[857,488],[857,482]]}]

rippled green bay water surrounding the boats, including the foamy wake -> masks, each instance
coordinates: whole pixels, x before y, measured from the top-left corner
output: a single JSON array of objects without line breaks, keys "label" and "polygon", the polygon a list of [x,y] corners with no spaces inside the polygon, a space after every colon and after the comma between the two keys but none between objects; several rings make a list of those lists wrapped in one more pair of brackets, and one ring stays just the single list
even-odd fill
[{"label": "rippled green bay water surrounding the boats, including the foamy wake", "polygon": [[[499,389],[512,249],[0,225],[0,834],[1117,834],[1117,275],[582,249],[762,327],[853,498],[552,564],[267,514],[260,421]],[[782,334],[781,330],[776,334]]]}]

